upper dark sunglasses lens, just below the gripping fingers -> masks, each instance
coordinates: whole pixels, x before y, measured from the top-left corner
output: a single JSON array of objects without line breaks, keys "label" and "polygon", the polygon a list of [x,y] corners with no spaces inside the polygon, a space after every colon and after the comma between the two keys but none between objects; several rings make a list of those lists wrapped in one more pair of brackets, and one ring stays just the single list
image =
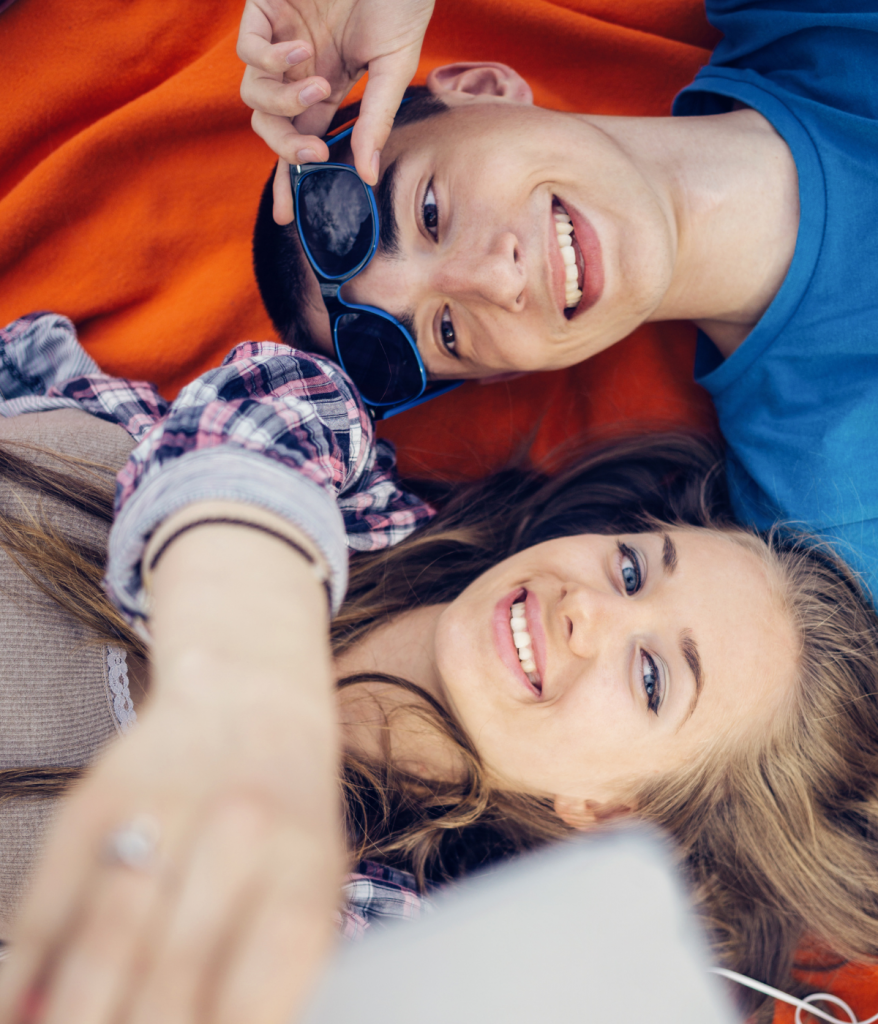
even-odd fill
[{"label": "upper dark sunglasses lens, just below the gripping fingers", "polygon": [[352,270],[366,259],[374,225],[366,185],[338,168],[306,174],[298,188],[299,234],[327,278]]}]

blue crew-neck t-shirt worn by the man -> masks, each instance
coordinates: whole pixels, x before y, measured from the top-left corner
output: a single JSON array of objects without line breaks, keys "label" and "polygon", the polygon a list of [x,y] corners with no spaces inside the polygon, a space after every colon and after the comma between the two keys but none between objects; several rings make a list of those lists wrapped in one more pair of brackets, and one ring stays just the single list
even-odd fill
[{"label": "blue crew-neck t-shirt worn by the man", "polygon": [[708,0],[723,33],[675,115],[740,100],[789,145],[800,222],[774,302],[725,361],[701,335],[738,515],[831,540],[878,598],[878,2]]}]

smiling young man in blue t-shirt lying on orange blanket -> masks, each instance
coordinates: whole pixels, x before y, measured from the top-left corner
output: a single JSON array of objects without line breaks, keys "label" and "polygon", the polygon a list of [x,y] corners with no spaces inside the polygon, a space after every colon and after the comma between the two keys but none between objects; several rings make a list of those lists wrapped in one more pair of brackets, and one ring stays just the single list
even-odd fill
[{"label": "smiling young man in blue t-shirt lying on orange blanket", "polygon": [[[742,518],[804,523],[871,575],[878,483],[851,438],[878,428],[878,8],[839,6],[709,0],[724,39],[667,119],[541,110],[502,65],[436,69],[442,106],[383,148],[392,245],[342,298],[410,326],[434,378],[693,321]],[[257,240],[273,230],[295,245],[263,206]],[[289,280],[279,329],[330,352],[316,279]]]}]

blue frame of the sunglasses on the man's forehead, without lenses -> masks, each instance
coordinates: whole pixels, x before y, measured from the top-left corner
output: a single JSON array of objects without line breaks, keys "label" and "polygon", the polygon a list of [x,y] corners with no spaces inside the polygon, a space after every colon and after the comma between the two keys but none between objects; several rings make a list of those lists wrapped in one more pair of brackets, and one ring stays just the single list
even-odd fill
[{"label": "blue frame of the sunglasses on the man's forehead, without lenses", "polygon": [[[403,100],[405,102],[405,100]],[[324,141],[327,145],[332,146],[337,142],[343,141],[347,138],[353,131],[353,125],[342,129],[338,134],[327,136]],[[293,189],[293,209],[295,211],[295,223],[296,230],[298,230],[298,224],[300,222],[299,218],[299,190],[302,181],[311,174],[318,174],[321,171],[327,170],[341,170],[346,173],[353,174],[357,180],[363,185],[366,195],[369,199],[369,205],[372,210],[372,240],[369,245],[369,249],[364,256],[364,258],[357,264],[351,270],[346,270],[344,273],[336,274],[335,276],[328,276],[324,271],[318,266],[313,255],[311,254],[310,248],[308,247],[307,241],[303,234],[299,231],[299,242],[301,243],[304,254],[317,275],[318,282],[320,284],[320,291],[323,297],[324,305],[329,313],[330,329],[332,331],[332,344],[335,349],[335,357],[338,359],[341,369],[350,376],[354,384],[357,380],[350,374],[348,368],[344,365],[344,358],[341,355],[341,351],[338,345],[338,325],[342,316],[349,312],[368,312],[375,316],[381,317],[381,319],[386,321],[391,324],[403,336],[411,349],[415,360],[417,361],[418,372],[421,379],[420,388],[418,393],[411,398],[404,399],[403,401],[389,401],[389,402],[372,402],[369,401],[365,395],[363,395],[363,400],[369,410],[373,420],[386,420],[391,416],[395,416],[398,413],[404,413],[408,409],[414,409],[416,406],[420,406],[425,401],[429,401],[430,398],[436,398],[441,394],[445,394],[448,391],[459,387],[462,381],[441,381],[441,382],[430,382],[427,377],[426,367],[421,358],[421,353],[418,351],[417,342],[412,337],[411,333],[405,328],[396,318],[390,313],[385,312],[383,309],[379,309],[377,306],[362,305],[356,302],[346,302],[340,295],[341,286],[346,284],[352,278],[356,278],[358,273],[361,273],[372,261],[375,251],[378,248],[378,233],[379,233],[379,223],[378,223],[378,204],[375,202],[375,194],[372,190],[372,186],[368,185],[363,178],[357,173],[357,171],[349,164],[336,164],[336,163],[324,163],[324,164],[291,164],[290,165],[290,185]],[[359,387],[359,385],[358,385]]]}]

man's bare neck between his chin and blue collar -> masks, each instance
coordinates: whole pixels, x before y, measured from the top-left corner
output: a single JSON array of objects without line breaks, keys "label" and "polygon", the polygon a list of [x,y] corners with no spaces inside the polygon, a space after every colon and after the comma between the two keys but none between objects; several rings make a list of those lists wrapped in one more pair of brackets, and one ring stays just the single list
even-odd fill
[{"label": "man's bare neck between his chin and blue collar", "polygon": [[654,184],[675,230],[671,284],[649,319],[693,321],[727,357],[792,262],[799,223],[792,154],[749,109],[599,120]]}]

